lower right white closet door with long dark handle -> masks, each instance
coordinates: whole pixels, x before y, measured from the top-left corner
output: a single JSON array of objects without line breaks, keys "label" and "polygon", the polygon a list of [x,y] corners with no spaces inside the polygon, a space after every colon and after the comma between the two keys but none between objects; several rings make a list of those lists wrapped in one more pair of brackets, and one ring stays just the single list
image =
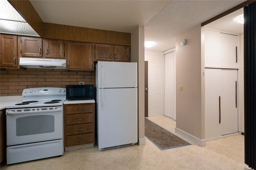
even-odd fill
[{"label": "lower right white closet door with long dark handle", "polygon": [[222,135],[238,132],[237,70],[221,69]]}]

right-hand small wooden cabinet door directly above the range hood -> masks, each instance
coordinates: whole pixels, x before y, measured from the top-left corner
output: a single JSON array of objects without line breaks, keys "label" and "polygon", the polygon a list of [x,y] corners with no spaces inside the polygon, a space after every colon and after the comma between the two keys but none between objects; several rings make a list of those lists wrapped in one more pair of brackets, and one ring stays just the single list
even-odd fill
[{"label": "right-hand small wooden cabinet door directly above the range hood", "polygon": [[64,41],[44,39],[44,57],[64,59]]}]

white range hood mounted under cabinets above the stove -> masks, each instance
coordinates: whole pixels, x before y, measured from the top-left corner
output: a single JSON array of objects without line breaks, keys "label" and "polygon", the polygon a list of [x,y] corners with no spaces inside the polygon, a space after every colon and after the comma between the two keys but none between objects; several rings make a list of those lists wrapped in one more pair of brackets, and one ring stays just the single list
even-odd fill
[{"label": "white range hood mounted under cabinets above the stove", "polygon": [[26,68],[66,69],[66,60],[20,57],[19,65]]}]

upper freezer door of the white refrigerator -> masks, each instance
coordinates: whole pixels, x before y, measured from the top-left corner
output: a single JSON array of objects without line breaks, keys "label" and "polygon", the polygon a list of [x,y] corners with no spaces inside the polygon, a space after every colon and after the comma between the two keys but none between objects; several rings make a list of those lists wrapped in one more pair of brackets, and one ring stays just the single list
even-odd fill
[{"label": "upper freezer door of the white refrigerator", "polygon": [[137,87],[137,63],[98,61],[96,87]]}]

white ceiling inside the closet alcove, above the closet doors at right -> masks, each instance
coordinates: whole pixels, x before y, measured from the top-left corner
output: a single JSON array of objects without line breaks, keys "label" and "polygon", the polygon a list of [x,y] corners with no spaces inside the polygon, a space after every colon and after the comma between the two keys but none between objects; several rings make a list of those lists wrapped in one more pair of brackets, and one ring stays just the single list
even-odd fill
[{"label": "white ceiling inside the closet alcove, above the closet doors at right", "polygon": [[208,23],[205,28],[237,34],[243,33],[244,25],[234,21],[234,18],[241,14],[244,14],[243,8],[217,19],[214,22]]}]

